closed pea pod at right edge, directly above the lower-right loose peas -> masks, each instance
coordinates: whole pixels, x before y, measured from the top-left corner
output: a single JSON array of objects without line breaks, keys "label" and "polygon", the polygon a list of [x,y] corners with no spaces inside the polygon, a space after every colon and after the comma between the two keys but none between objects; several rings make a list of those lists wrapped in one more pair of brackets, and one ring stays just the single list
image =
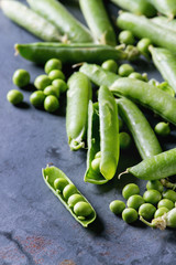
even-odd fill
[{"label": "closed pea pod at right edge, directly above the lower-right loose peas", "polygon": [[164,151],[128,168],[127,172],[143,180],[164,179],[176,174],[176,148]]}]

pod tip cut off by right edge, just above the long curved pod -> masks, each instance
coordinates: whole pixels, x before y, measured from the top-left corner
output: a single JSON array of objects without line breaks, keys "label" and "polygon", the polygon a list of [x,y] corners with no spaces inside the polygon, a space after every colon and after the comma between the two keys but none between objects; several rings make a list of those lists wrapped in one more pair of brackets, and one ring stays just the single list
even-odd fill
[{"label": "pod tip cut off by right edge, just above the long curved pod", "polygon": [[152,60],[163,78],[176,92],[176,56],[167,49],[150,46]]}]

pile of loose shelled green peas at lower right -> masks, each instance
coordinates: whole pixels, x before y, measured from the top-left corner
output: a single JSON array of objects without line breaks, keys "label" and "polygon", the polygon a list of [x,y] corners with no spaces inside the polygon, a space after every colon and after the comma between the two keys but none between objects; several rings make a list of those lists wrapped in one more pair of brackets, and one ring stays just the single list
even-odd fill
[{"label": "pile of loose shelled green peas at lower right", "polygon": [[122,214],[127,223],[133,223],[139,215],[146,221],[157,219],[175,208],[176,192],[164,190],[160,180],[147,181],[146,191],[140,195],[140,188],[135,183],[127,184],[122,190],[127,205],[121,200],[114,200],[109,204],[114,214]]}]

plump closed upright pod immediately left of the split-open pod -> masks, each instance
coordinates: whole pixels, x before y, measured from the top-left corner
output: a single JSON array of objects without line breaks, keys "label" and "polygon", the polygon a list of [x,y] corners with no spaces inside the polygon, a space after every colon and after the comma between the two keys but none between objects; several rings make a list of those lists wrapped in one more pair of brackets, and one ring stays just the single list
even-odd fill
[{"label": "plump closed upright pod immediately left of the split-open pod", "polygon": [[66,131],[72,150],[85,147],[90,98],[90,81],[82,73],[74,73],[68,80],[66,108]]}]

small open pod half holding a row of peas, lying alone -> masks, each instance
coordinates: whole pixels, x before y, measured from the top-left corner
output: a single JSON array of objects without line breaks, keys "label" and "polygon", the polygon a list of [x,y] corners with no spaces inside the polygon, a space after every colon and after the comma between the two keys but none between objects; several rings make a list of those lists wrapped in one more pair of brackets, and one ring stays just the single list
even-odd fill
[{"label": "small open pod half holding a row of peas, lying alone", "polygon": [[[87,227],[88,224],[95,221],[96,211],[61,169],[54,166],[47,166],[45,169],[42,169],[42,173],[47,187],[61,200],[61,202],[65,205],[65,208],[70,212],[77,222]],[[76,195],[77,198],[75,197],[72,200],[73,195]],[[84,204],[80,204],[80,202],[84,202]],[[84,209],[85,205],[87,209]],[[78,212],[86,212],[86,214],[81,216]]]}]

